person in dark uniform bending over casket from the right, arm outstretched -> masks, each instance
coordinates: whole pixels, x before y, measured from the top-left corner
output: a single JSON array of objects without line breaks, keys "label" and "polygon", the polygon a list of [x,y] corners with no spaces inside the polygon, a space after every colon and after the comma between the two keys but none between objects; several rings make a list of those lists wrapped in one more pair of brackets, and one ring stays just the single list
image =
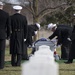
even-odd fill
[{"label": "person in dark uniform bending over casket from the right, arm outstretched", "polygon": [[53,39],[57,36],[57,45],[61,45],[61,59],[68,59],[71,46],[70,36],[72,28],[67,25],[56,26],[56,24],[49,24],[48,28],[53,31],[53,34],[49,36],[49,39]]}]

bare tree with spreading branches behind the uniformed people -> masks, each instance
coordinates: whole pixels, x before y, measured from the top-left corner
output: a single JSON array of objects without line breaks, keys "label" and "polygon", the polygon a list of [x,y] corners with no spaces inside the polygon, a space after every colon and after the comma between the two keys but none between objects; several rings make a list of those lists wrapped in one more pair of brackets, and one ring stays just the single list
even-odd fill
[{"label": "bare tree with spreading branches behind the uniformed people", "polygon": [[75,0],[2,0],[10,4],[21,4],[33,15],[33,23],[40,23],[43,16],[58,11],[65,12],[75,5]]}]

